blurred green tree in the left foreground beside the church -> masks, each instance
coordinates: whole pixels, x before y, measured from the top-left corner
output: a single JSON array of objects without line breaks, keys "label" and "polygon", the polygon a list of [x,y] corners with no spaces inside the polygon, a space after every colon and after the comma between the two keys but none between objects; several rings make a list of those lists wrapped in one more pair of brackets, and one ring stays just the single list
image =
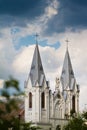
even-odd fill
[{"label": "blurred green tree in the left foreground beside the church", "polygon": [[4,82],[1,90],[0,100],[0,130],[36,130],[37,127],[31,126],[31,123],[25,123],[20,120],[20,103],[22,100],[18,96],[24,95],[19,88],[19,82],[10,77]]}]

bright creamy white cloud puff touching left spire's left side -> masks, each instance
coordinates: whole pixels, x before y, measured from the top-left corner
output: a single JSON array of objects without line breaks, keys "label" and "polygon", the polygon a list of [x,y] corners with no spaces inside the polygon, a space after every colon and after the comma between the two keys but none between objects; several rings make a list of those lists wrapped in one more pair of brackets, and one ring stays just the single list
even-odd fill
[{"label": "bright creamy white cloud puff touching left spire's left side", "polygon": [[24,47],[14,58],[13,68],[16,73],[24,74],[29,71],[34,52],[34,45]]}]

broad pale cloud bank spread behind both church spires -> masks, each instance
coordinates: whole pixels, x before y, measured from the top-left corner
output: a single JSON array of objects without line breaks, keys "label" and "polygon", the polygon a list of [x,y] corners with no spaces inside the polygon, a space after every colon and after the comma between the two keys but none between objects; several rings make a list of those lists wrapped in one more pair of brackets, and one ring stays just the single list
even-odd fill
[{"label": "broad pale cloud bank spread behind both church spires", "polygon": [[[2,37],[0,38],[0,78],[6,79],[9,75],[15,76],[19,81],[21,88],[23,89],[24,80],[27,79],[30,66],[32,62],[32,56],[34,53],[35,45],[22,46],[18,50],[12,43],[12,35],[10,28],[1,30]],[[4,34],[4,35],[3,35]],[[53,37],[46,37],[48,43],[55,43],[57,40],[60,42],[60,47],[55,49],[54,47],[45,46],[41,47],[40,54],[47,80],[50,81],[51,89],[55,89],[55,78],[61,76],[61,70],[63,66],[64,55],[66,51],[65,40],[69,39],[69,53],[71,62],[77,83],[80,85],[80,109],[83,108],[86,100],[86,74],[87,74],[87,54],[86,54],[86,42],[87,42],[87,30],[79,32],[70,32],[67,30],[65,33],[58,35],[55,33]],[[25,34],[21,34],[24,35]],[[49,66],[49,67],[48,67]],[[84,99],[84,102],[83,102]]]}]

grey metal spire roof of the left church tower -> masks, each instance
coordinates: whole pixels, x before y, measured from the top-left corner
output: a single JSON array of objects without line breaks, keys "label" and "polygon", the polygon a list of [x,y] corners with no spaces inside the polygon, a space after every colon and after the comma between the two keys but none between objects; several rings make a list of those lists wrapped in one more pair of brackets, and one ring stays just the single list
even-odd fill
[{"label": "grey metal spire roof of the left church tower", "polygon": [[32,60],[32,65],[30,69],[30,79],[32,86],[42,86],[44,79],[45,79],[45,74],[42,66],[42,61],[39,53],[39,48],[38,44],[36,44],[34,55],[33,55],[33,60]]}]

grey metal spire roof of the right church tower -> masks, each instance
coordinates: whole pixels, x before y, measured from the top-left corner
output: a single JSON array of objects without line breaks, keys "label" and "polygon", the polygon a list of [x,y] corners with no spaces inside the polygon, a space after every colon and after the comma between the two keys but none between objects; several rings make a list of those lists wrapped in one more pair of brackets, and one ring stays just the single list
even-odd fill
[{"label": "grey metal spire roof of the right church tower", "polygon": [[61,82],[63,90],[70,89],[73,90],[75,86],[75,77],[74,72],[68,52],[68,48],[66,50],[63,68],[62,68],[62,74],[61,74]]}]

